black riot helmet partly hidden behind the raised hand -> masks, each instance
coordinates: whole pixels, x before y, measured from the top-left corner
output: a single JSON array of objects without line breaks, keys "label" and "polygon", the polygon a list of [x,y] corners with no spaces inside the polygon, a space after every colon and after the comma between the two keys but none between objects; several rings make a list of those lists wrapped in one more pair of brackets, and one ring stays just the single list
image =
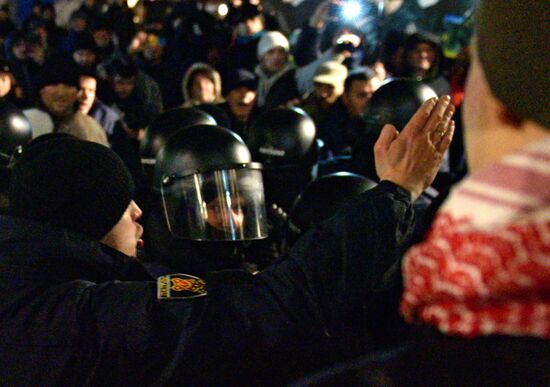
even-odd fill
[{"label": "black riot helmet partly hidden behind the raised hand", "polygon": [[352,150],[352,169],[378,180],[374,165],[374,144],[386,124],[401,131],[414,113],[428,99],[437,97],[435,91],[421,81],[395,79],[374,92],[364,113],[366,130]]}]

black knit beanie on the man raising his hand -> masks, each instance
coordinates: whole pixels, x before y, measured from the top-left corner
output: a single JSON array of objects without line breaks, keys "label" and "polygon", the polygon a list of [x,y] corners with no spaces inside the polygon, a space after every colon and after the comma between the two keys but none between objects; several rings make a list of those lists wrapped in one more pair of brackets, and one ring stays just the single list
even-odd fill
[{"label": "black knit beanie on the man raising his hand", "polygon": [[118,223],[133,194],[132,177],[112,150],[53,136],[31,142],[15,162],[9,212],[100,240]]}]

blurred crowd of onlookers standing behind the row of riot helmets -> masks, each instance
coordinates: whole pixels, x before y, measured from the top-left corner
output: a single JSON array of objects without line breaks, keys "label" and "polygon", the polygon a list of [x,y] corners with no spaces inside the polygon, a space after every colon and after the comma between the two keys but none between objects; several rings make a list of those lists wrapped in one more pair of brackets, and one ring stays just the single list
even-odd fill
[{"label": "blurred crowd of onlookers standing behind the row of riot helmets", "polygon": [[[7,19],[0,97],[21,109],[53,114],[55,121],[68,111],[52,112],[48,100],[66,99],[72,106],[72,96],[115,149],[131,147],[120,142],[139,141],[154,118],[174,107],[219,105],[229,116],[229,129],[245,136],[260,111],[298,106],[323,128],[318,137],[326,151],[338,155],[349,152],[354,140],[349,135],[358,134],[334,139],[325,133],[337,124],[329,109],[346,120],[360,116],[369,96],[391,77],[422,80],[439,96],[460,93],[463,86],[455,82],[451,90],[447,79],[454,73],[443,63],[435,36],[402,34],[395,52],[376,57],[361,30],[338,17],[332,1],[321,2],[291,34],[292,44],[277,30],[285,23],[261,4],[229,4],[226,16],[213,0],[146,4],[139,24],[125,3],[94,0],[83,2],[63,26],[56,23],[57,8],[41,1],[20,26]],[[62,97],[51,87],[43,91],[61,81],[77,92],[67,89]],[[42,123],[35,137],[52,127]]]}]

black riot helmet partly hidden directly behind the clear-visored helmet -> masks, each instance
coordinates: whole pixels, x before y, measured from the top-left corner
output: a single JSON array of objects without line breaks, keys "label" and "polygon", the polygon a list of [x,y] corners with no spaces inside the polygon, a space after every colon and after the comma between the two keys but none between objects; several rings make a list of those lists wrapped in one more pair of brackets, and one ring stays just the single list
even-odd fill
[{"label": "black riot helmet partly hidden directly behind the clear-visored helmet", "polygon": [[178,130],[193,125],[217,125],[217,122],[208,113],[192,107],[173,108],[162,113],[145,129],[139,149],[142,163],[154,164],[158,151],[168,138]]}]

